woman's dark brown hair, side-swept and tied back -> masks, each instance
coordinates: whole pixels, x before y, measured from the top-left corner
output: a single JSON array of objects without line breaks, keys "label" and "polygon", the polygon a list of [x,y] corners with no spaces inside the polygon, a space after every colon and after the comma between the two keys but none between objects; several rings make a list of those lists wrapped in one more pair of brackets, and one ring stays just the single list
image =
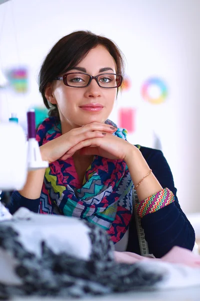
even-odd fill
[{"label": "woman's dark brown hair, side-swept and tied back", "polygon": [[39,92],[45,106],[49,109],[49,116],[59,116],[59,114],[57,105],[49,103],[44,95],[47,83],[75,67],[84,59],[89,50],[98,45],[108,50],[116,63],[116,73],[123,75],[123,55],[113,41],[90,31],[76,31],[61,38],[47,54],[39,72]]}]

